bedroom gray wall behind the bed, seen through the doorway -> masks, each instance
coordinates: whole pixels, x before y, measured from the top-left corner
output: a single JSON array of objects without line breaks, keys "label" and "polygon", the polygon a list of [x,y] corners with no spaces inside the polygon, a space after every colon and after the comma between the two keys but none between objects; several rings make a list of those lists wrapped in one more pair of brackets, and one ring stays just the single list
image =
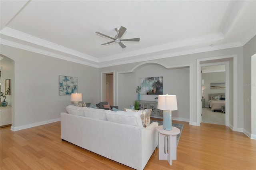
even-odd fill
[{"label": "bedroom gray wall behind the bed, seen through the doorway", "polygon": [[211,89],[210,83],[225,83],[226,80],[225,72],[215,72],[215,73],[202,73],[202,79],[204,79],[204,86],[202,86],[205,106],[208,105],[208,94],[209,93],[225,93],[225,89]]}]

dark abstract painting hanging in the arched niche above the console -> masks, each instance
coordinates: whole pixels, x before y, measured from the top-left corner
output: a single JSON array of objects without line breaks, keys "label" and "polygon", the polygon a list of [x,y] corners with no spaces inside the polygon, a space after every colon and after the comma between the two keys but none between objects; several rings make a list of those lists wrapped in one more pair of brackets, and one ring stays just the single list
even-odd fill
[{"label": "dark abstract painting hanging in the arched niche above the console", "polygon": [[146,77],[140,79],[141,95],[162,95],[163,77]]}]

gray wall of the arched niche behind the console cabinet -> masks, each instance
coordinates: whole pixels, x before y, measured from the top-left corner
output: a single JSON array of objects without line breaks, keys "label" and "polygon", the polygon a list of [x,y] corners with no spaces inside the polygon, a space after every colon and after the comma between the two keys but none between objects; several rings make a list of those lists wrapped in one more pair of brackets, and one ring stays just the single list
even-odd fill
[{"label": "gray wall of the arched niche behind the console cabinet", "polygon": [[[129,108],[137,100],[136,87],[140,78],[163,76],[163,94],[176,95],[178,110],[172,111],[176,120],[189,121],[189,68],[166,69],[161,65],[145,65],[135,73],[118,75],[118,106]],[[141,100],[154,101],[158,95],[140,95]]]}]

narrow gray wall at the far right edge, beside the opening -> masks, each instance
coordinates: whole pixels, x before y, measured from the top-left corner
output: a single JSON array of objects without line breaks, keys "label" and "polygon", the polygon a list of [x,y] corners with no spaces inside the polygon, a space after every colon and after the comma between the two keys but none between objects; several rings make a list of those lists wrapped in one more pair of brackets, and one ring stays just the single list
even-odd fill
[{"label": "narrow gray wall at the far right edge, beside the opening", "polygon": [[[252,55],[256,53],[256,36],[244,45],[244,81],[239,84],[243,88],[244,97],[244,130],[256,135],[256,127],[252,128],[251,119],[251,63]],[[249,86],[248,86],[249,85]],[[255,120],[254,120],[255,121]],[[255,123],[254,123],[255,124]]]}]

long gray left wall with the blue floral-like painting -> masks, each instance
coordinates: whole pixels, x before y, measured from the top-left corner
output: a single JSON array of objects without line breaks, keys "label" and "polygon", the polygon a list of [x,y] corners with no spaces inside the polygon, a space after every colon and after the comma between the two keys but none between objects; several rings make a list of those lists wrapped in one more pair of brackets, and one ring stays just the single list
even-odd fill
[{"label": "long gray left wall with the blue floral-like painting", "polygon": [[60,118],[70,95],[58,95],[59,75],[78,77],[84,102],[99,101],[98,69],[1,45],[1,54],[14,60],[12,127]]}]

